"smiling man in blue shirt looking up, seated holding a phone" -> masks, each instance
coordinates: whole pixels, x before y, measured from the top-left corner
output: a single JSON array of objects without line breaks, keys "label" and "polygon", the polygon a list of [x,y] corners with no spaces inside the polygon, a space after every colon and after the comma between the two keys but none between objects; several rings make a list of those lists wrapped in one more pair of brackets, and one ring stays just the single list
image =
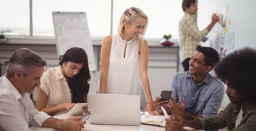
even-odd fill
[{"label": "smiling man in blue shirt looking up, seated holding a phone", "polygon": [[[187,120],[212,116],[218,113],[224,96],[224,86],[209,72],[220,61],[218,52],[211,47],[196,47],[197,52],[189,61],[188,72],[177,73],[171,81],[171,96],[186,112]],[[166,101],[154,101],[156,110],[164,106],[167,113],[177,113],[182,110],[172,110]]]}]

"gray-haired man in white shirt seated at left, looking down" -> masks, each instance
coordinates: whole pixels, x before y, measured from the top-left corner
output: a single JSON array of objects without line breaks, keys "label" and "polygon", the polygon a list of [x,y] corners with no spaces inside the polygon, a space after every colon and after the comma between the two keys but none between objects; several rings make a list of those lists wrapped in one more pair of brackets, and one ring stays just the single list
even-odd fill
[{"label": "gray-haired man in white shirt seated at left, looking down", "polygon": [[21,48],[9,59],[7,72],[0,78],[0,131],[31,130],[31,125],[58,130],[81,130],[80,118],[58,120],[36,110],[29,93],[40,85],[46,60],[36,52]]}]

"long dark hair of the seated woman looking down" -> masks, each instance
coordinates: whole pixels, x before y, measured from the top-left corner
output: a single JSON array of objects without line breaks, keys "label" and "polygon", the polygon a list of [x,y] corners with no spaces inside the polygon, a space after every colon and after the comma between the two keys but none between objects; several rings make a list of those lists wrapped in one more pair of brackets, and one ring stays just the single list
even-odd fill
[{"label": "long dark hair of the seated woman looking down", "polygon": [[[90,71],[88,67],[88,57],[82,48],[72,47],[60,56],[60,65],[64,62],[74,62],[83,64],[82,69],[78,74],[69,79],[70,91],[72,94],[72,103],[84,103],[87,102],[87,93],[90,89]],[[86,99],[85,99],[86,98]]]}]

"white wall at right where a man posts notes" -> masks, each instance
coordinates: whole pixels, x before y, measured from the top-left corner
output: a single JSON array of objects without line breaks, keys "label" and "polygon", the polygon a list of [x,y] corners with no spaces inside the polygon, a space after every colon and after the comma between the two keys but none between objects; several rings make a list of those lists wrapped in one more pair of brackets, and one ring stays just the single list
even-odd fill
[{"label": "white wall at right where a man posts notes", "polygon": [[[198,20],[199,29],[204,29],[210,23],[210,18],[216,11],[220,12],[225,6],[229,6],[227,17],[230,18],[228,31],[235,32],[235,45],[233,49],[242,47],[256,47],[256,1],[255,0],[198,0]],[[225,85],[226,88],[226,85]],[[221,105],[224,108],[230,101],[225,95]]]}]

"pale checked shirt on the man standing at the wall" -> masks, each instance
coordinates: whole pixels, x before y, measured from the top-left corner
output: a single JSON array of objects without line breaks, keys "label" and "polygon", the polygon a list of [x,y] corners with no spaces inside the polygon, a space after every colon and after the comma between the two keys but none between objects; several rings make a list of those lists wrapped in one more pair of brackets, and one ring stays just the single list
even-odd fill
[{"label": "pale checked shirt on the man standing at the wall", "polygon": [[193,16],[185,13],[179,21],[178,25],[178,44],[180,60],[190,58],[196,52],[196,45],[200,45],[200,41],[208,33],[207,29],[199,31]]}]

